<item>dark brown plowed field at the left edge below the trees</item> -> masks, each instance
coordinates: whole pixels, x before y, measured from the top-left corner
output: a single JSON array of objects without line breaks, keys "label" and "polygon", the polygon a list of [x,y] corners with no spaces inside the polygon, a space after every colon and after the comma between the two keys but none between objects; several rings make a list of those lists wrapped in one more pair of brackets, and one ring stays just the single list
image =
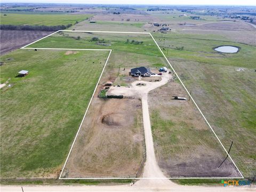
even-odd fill
[{"label": "dark brown plowed field at the left edge below the trees", "polygon": [[3,55],[53,33],[53,31],[1,30],[1,50]]}]

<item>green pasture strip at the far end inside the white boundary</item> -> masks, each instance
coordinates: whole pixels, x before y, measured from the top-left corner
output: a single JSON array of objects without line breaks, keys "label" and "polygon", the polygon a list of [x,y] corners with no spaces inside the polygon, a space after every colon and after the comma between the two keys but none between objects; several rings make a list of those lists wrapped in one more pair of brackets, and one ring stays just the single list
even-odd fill
[{"label": "green pasture strip at the far end inside the white boundary", "polygon": [[[77,37],[80,39],[77,39]],[[92,41],[98,37],[99,41]],[[127,43],[127,39],[129,42]],[[131,41],[143,42],[134,44]],[[76,49],[113,49],[129,53],[137,53],[148,56],[162,57],[153,39],[147,34],[109,34],[109,33],[73,33],[60,32],[28,47],[51,47],[51,48],[76,48]]]}]

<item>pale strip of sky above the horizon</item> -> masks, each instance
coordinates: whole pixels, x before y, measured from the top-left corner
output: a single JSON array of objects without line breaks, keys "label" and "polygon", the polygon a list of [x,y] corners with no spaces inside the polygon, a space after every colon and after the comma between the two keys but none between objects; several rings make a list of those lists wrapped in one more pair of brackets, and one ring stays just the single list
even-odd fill
[{"label": "pale strip of sky above the horizon", "polygon": [[158,5],[254,5],[255,0],[2,0],[2,3],[83,3],[83,4],[158,4]]}]

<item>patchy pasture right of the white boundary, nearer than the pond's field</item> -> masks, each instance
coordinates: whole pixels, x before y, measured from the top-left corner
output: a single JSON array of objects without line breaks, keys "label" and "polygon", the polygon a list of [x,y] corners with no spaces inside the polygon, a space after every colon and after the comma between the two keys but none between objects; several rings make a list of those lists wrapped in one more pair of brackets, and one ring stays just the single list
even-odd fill
[{"label": "patchy pasture right of the white boundary, nearer than the pond's field", "polygon": [[[221,142],[229,149],[245,177],[253,177],[255,146],[255,72],[252,68],[172,59],[182,81],[209,120]],[[241,66],[243,67],[243,66]]]}]

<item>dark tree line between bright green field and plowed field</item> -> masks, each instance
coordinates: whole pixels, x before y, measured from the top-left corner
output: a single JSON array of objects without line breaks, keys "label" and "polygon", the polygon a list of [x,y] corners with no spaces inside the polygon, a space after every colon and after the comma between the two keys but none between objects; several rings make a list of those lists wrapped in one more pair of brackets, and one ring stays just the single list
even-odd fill
[{"label": "dark tree line between bright green field and plowed field", "polygon": [[57,30],[63,30],[66,28],[71,27],[71,24],[68,25],[58,25],[58,26],[30,26],[30,25],[0,25],[1,30],[41,30],[41,31],[57,31]]}]

